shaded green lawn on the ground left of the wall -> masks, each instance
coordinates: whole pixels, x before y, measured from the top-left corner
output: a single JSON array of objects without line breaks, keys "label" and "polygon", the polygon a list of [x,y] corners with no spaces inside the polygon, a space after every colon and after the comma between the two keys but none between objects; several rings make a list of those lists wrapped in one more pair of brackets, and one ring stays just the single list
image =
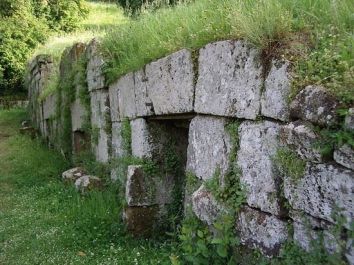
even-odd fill
[{"label": "shaded green lawn on the ground left of the wall", "polygon": [[133,240],[114,187],[80,196],[68,163],[18,133],[23,110],[0,111],[0,264],[158,264],[169,245]]}]

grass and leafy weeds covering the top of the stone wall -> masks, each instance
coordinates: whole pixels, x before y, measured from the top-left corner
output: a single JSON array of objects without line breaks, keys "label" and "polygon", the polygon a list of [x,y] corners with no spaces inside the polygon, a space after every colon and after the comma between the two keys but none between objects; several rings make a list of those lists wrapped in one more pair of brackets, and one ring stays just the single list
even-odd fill
[{"label": "grass and leafy weeds covering the top of the stone wall", "polygon": [[243,38],[266,55],[292,60],[297,87],[323,84],[349,104],[354,101],[353,13],[351,0],[199,0],[162,8],[103,37],[107,80],[182,48]]}]

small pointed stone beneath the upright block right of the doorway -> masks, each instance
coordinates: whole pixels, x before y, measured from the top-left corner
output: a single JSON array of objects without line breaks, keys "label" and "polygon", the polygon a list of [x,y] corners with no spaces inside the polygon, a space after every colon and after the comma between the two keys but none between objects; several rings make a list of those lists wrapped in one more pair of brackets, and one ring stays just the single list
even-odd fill
[{"label": "small pointed stone beneath the upright block right of the doorway", "polygon": [[192,194],[192,209],[195,215],[208,225],[214,224],[224,211],[223,207],[204,185],[200,186],[200,188]]}]

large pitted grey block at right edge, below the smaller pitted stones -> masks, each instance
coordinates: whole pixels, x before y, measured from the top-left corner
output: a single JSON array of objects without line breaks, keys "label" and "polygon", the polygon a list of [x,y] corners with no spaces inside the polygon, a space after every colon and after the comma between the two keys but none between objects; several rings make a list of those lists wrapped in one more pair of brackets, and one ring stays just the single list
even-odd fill
[{"label": "large pitted grey block at right edge, below the smaller pitted stones", "polygon": [[346,226],[354,217],[354,173],[329,164],[308,164],[302,179],[284,178],[284,194],[294,210],[334,222],[342,214]]}]

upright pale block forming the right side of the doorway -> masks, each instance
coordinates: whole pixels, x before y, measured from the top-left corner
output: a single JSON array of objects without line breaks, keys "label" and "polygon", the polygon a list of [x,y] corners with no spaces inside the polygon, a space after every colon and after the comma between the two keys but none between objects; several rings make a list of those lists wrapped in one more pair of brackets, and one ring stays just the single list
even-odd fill
[{"label": "upright pale block forming the right side of the doorway", "polygon": [[231,139],[224,118],[196,116],[189,127],[187,171],[204,180],[220,170],[224,175],[229,167]]}]

